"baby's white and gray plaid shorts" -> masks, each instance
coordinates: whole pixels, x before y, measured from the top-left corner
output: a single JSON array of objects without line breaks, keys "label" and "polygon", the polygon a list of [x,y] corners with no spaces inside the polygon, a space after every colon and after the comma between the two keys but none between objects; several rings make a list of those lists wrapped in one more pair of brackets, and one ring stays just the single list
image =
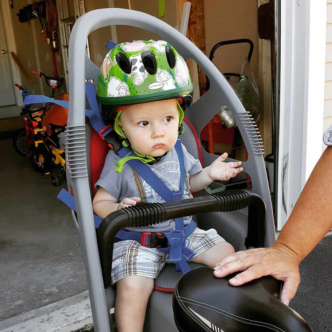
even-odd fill
[{"label": "baby's white and gray plaid shorts", "polygon": [[[214,228],[207,231],[198,227],[188,236],[186,247],[196,255],[225,241]],[[168,254],[157,248],[141,246],[135,240],[124,240],[114,243],[111,282],[114,285],[127,276],[142,276],[155,279],[168,262]]]}]

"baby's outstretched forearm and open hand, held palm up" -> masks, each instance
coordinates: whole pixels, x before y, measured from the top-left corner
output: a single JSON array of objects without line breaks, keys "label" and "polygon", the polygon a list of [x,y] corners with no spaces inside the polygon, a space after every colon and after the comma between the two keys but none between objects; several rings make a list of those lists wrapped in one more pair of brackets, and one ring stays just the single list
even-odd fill
[{"label": "baby's outstretched forearm and open hand, held palm up", "polygon": [[238,173],[243,171],[243,167],[235,168],[242,165],[241,161],[225,163],[224,160],[228,154],[223,153],[210,166],[203,168],[201,172],[192,175],[189,178],[190,191],[197,192],[208,186],[212,181],[228,181]]}]

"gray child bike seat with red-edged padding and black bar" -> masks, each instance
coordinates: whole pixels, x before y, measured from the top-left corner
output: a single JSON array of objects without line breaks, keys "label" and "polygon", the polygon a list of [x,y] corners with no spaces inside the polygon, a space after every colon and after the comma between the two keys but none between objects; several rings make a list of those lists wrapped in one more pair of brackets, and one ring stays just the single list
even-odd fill
[{"label": "gray child bike seat with red-edged padding and black bar", "polygon": [[[129,25],[154,32],[160,35],[162,40],[172,44],[185,60],[192,58],[202,68],[209,78],[210,89],[192,104],[188,112],[186,111],[188,126],[193,134],[187,136],[186,141],[182,141],[182,143],[193,155],[193,151],[198,151],[195,157],[200,157],[204,166],[210,165],[218,156],[201,149],[201,143],[195,137],[199,137],[202,128],[213,118],[221,106],[228,106],[248,151],[249,158],[242,163],[242,166],[244,172],[250,175],[251,192],[240,194],[234,191],[227,194],[226,191],[225,197],[222,196],[223,194],[216,195],[217,197],[213,194],[181,202],[167,202],[158,206],[152,203],[140,208],[122,209],[104,218],[96,236],[91,198],[94,194],[94,183],[98,180],[99,175],[94,170],[99,169],[100,174],[108,147],[100,137],[98,138],[97,132],[91,131],[91,125],[86,124],[85,79],[94,79],[92,84],[96,87],[99,68],[86,56],[85,49],[88,35],[92,31],[110,25]],[[72,216],[77,227],[79,226],[82,257],[87,274],[96,332],[110,331],[110,325],[113,322],[110,309],[114,307],[116,290],[115,287],[109,287],[112,241],[119,229],[129,225],[128,222],[135,226],[151,225],[162,220],[198,214],[197,222],[200,228],[215,228],[227,242],[234,246],[235,250],[244,250],[247,246],[271,246],[275,242],[272,204],[263,158],[263,146],[257,125],[253,122],[249,112],[243,108],[219,70],[191,41],[165,22],[148,14],[119,8],[98,9],[81,16],[72,29],[69,41],[69,68],[70,99],[66,128],[67,182],[69,192],[75,197],[77,215],[72,212]],[[100,139],[100,144],[98,139]],[[99,145],[93,148],[95,143]],[[104,159],[99,157],[100,154]],[[228,158],[227,162],[229,161],[233,160]],[[75,167],[70,167],[73,165]],[[254,205],[251,206],[253,202],[259,204],[260,209]],[[211,205],[215,208],[212,209]],[[248,208],[244,209],[245,207]],[[264,214],[260,213],[263,210]],[[211,211],[214,212],[211,213]],[[227,212],[221,213],[221,211]],[[259,213],[260,218],[255,218],[255,213]],[[249,240],[246,240],[247,238]],[[195,274],[195,271],[190,273]],[[213,277],[212,272],[208,271],[208,274]],[[174,273],[176,273],[175,268]],[[216,290],[220,289],[223,282],[224,279],[215,280]],[[196,288],[197,285],[200,285],[200,282],[191,279],[190,286]],[[165,288],[165,285],[163,287]],[[244,301],[246,300],[244,297]],[[266,297],[266,300],[269,301],[269,297]],[[239,298],[237,301],[239,302]],[[177,331],[170,291],[154,290],[152,292],[143,330],[146,332]],[[220,328],[219,331],[221,332]]]}]

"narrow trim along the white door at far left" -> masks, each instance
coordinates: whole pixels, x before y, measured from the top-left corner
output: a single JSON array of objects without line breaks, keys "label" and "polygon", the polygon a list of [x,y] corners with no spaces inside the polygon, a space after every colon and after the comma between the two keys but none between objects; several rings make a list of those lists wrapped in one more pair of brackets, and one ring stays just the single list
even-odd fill
[{"label": "narrow trim along the white door at far left", "polygon": [[[15,3],[15,2],[14,2]],[[16,66],[16,63],[12,56],[10,55],[10,52],[15,52],[17,54],[17,47],[15,43],[15,36],[14,36],[14,29],[13,29],[13,21],[12,21],[12,15],[11,15],[11,8],[9,6],[9,1],[0,1],[0,10],[2,14],[2,21],[4,25],[4,34],[8,49],[8,58],[9,58],[9,64],[12,74],[13,83],[18,83],[22,85],[22,77],[21,72],[19,68]],[[22,106],[22,95],[21,91],[19,89],[14,89],[15,93],[15,101],[16,105]]]}]

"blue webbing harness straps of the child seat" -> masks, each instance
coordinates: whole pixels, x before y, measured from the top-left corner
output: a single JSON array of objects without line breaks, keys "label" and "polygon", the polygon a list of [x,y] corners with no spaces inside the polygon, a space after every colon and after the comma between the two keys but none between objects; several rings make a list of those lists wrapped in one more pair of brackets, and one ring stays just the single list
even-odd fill
[{"label": "blue webbing harness straps of the child seat", "polygon": [[[109,45],[111,46],[111,44]],[[91,110],[85,110],[86,116],[89,118],[92,127],[100,134],[102,137],[106,137],[111,131],[110,126],[105,125],[104,120],[101,116],[101,107],[98,106],[96,100],[96,92],[91,82],[85,83],[86,97],[91,107]],[[69,103],[64,100],[54,100],[46,96],[41,95],[29,95],[25,98],[24,105],[34,104],[34,103],[54,103],[64,108],[69,108]],[[180,165],[180,190],[171,191],[154,173],[153,171],[145,165],[143,162],[137,159],[131,159],[127,161],[129,166],[134,169],[137,174],[145,180],[155,192],[165,201],[178,201],[183,199],[183,191],[185,186],[185,166],[184,166],[184,157],[183,150],[181,146],[180,136],[178,137],[175,150],[179,159]],[[118,154],[121,157],[125,156],[135,156],[135,154],[127,147],[122,147],[118,150]],[[76,211],[75,200],[72,195],[70,195],[64,189],[58,195],[58,199],[68,205],[71,209]],[[98,228],[102,222],[102,218],[94,215],[95,227]],[[163,232],[167,237],[170,247],[168,248],[158,248],[169,254],[169,261],[176,264],[176,270],[182,270],[183,273],[190,271],[190,267],[187,263],[187,260],[190,260],[195,252],[186,248],[186,239],[188,236],[195,230],[196,223],[194,220],[184,226],[183,218],[175,219],[175,230]],[[136,240],[141,243],[141,232],[128,232],[128,231],[119,231],[117,238],[120,240]],[[145,245],[148,243],[147,237],[145,238]],[[144,245],[144,244],[143,244]]]}]

